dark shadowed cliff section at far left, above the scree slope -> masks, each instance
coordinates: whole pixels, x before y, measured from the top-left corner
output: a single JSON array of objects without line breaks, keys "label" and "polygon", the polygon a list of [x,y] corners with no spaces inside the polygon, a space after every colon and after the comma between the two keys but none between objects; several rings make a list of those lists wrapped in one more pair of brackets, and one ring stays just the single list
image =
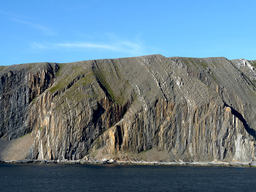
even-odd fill
[{"label": "dark shadowed cliff section at far left, above the scree slope", "polygon": [[32,63],[0,71],[0,137],[10,140],[32,131],[26,124],[29,104],[52,86],[57,70],[56,64]]}]

